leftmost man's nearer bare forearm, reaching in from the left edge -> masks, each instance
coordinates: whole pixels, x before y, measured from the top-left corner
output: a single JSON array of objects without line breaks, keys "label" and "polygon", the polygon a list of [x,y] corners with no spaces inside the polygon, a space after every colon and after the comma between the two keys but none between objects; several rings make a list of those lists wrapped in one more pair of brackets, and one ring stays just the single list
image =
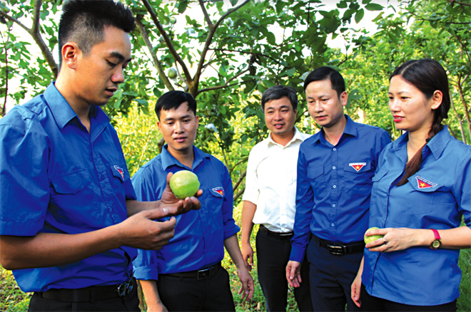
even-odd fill
[{"label": "leftmost man's nearer bare forearm, reaching in from the left edge", "polygon": [[119,246],[119,230],[116,226],[82,234],[39,233],[32,237],[2,235],[1,265],[9,270],[61,266]]}]

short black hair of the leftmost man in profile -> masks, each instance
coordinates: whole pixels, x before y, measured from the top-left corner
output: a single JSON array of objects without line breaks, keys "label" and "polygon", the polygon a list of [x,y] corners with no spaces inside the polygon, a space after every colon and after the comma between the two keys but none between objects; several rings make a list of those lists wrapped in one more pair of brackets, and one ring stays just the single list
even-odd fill
[{"label": "short black hair of the leftmost man in profile", "polygon": [[136,28],[131,9],[113,0],[69,0],[62,6],[59,21],[59,71],[62,63],[62,47],[75,41],[83,54],[103,41],[105,26],[114,26],[130,33]]}]

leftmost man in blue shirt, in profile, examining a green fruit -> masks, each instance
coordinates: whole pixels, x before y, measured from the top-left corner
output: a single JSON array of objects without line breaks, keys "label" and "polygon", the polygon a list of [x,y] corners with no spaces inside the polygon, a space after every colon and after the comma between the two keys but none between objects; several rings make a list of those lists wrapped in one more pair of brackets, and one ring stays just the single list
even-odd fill
[{"label": "leftmost man in blue shirt, in profile, examining a green fruit", "polygon": [[66,2],[56,82],[0,120],[0,260],[35,292],[29,311],[139,311],[135,248],[160,249],[176,219],[152,220],[199,206],[168,187],[137,202],[99,108],[123,82],[133,28],[120,3]]}]

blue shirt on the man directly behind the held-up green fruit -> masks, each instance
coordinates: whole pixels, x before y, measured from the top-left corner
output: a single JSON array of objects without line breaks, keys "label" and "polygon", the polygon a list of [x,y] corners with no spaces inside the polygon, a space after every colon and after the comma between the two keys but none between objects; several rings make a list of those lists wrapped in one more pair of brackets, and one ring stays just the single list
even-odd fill
[{"label": "blue shirt on the man directly behind the held-up green fruit", "polygon": [[[166,149],[143,165],[132,182],[139,200],[161,199],[168,172],[190,170]],[[158,274],[194,271],[224,258],[224,240],[239,231],[233,219],[233,187],[223,163],[193,146],[192,172],[198,176],[203,195],[201,209],[176,217],[175,236],[159,251],[138,249],[136,279],[157,280]]]}]

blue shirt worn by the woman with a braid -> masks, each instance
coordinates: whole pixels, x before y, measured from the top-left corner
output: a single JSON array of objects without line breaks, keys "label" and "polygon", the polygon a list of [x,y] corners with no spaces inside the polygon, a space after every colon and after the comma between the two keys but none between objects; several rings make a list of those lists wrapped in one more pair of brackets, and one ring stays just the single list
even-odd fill
[{"label": "blue shirt worn by the woman with a braid", "polygon": [[[385,147],[373,178],[370,227],[453,229],[471,226],[471,147],[445,127],[422,150],[422,166],[397,187],[407,162],[407,133]],[[362,280],[371,296],[435,306],[459,295],[458,249],[417,246],[379,253],[365,249]]]}]

